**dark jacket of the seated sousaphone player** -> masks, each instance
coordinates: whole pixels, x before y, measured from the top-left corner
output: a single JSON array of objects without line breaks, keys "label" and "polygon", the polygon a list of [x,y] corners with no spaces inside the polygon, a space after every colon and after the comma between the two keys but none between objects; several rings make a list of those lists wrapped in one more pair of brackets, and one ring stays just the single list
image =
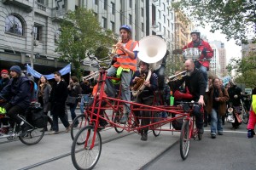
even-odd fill
[{"label": "dark jacket of the seated sousaphone player", "polygon": [[[133,77],[131,78],[131,83],[130,83],[131,86],[133,86],[136,83],[136,82],[132,82],[135,77],[141,77],[140,71],[135,71],[135,73],[133,74]],[[146,73],[146,77],[148,77],[148,73]],[[150,88],[148,87],[144,88],[143,92],[139,94],[141,98],[153,96],[154,91],[157,90],[157,77],[154,73],[151,74],[149,82],[150,82]]]}]

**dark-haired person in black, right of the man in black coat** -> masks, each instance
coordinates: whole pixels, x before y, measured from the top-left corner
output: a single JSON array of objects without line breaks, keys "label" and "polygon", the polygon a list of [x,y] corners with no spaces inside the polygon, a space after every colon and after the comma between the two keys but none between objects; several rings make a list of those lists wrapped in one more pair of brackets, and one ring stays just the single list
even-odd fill
[{"label": "dark-haired person in black, right of the man in black coat", "polygon": [[[75,111],[76,111],[77,105],[79,103],[79,95],[81,94],[81,87],[79,85],[79,80],[77,77],[74,77],[74,76],[70,77],[69,85],[68,85],[67,89],[68,89],[69,96],[78,98],[78,99],[76,99],[75,104],[69,104],[71,118],[72,118],[72,120],[74,120],[74,118],[76,117]],[[73,124],[73,126],[77,127],[78,123],[79,122],[75,122],[75,124]]]}]

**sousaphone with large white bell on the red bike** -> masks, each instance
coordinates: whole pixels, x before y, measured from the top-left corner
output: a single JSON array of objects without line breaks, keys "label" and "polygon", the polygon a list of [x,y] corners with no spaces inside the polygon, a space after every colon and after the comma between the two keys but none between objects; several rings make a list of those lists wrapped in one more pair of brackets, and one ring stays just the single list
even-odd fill
[{"label": "sousaphone with large white bell on the red bike", "polygon": [[[137,54],[137,57],[143,62],[149,64],[146,81],[149,81],[152,71],[160,68],[161,59],[164,58],[166,49],[165,40],[158,36],[143,37],[143,39],[139,41],[139,53]],[[142,85],[137,91],[133,91],[132,95],[136,97],[144,88],[145,86]]]}]

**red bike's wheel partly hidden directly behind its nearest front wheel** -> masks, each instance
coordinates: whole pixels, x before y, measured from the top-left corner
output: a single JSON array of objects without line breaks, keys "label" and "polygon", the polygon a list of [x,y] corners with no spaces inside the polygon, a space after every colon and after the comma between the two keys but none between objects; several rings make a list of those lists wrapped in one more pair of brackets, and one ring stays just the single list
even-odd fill
[{"label": "red bike's wheel partly hidden directly behind its nearest front wheel", "polygon": [[[79,116],[76,116],[73,120],[73,125],[70,129],[70,135],[71,135],[71,139],[74,139],[74,137],[76,136],[76,134],[79,132],[79,130],[82,127],[87,126],[89,123],[89,118],[85,117],[84,114],[81,114]],[[74,126],[75,125],[75,126]]]}]

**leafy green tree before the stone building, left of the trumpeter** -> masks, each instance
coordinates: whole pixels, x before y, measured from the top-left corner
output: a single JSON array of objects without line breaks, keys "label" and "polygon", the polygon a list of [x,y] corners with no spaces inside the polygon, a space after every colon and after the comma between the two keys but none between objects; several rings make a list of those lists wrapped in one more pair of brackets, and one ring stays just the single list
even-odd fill
[{"label": "leafy green tree before the stone building, left of the trumpeter", "polygon": [[[108,55],[108,49],[114,43],[113,32],[104,31],[92,10],[78,8],[69,11],[61,22],[61,35],[58,48],[61,60],[73,64],[77,77],[81,76],[81,62],[86,54],[99,54],[99,58]],[[99,49],[104,49],[99,53]]]}]

